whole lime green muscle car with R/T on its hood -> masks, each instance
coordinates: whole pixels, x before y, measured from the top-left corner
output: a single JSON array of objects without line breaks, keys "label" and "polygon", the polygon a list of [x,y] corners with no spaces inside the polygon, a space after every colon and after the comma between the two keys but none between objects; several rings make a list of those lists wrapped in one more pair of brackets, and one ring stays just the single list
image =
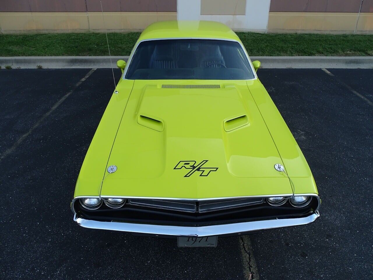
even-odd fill
[{"label": "whole lime green muscle car with R/T on its hood", "polygon": [[79,225],[214,246],[216,236],[319,217],[314,178],[260,62],[229,27],[151,24],[117,66],[76,182]]}]

